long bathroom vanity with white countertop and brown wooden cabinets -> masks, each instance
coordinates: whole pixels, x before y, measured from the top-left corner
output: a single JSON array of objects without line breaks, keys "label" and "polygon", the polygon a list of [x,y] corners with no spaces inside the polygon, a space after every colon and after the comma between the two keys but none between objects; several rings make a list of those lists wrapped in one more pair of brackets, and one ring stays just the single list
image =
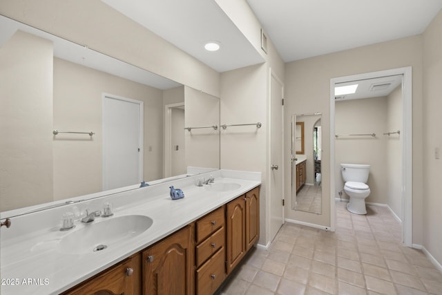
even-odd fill
[{"label": "long bathroom vanity with white countertop and brown wooden cabinets", "polygon": [[[61,222],[54,221],[69,208],[35,213],[44,225],[54,224],[36,235],[3,236],[1,275],[44,278],[47,284],[2,285],[1,294],[213,294],[258,241],[260,173],[211,174],[215,182],[203,187],[195,185],[195,176],[109,196],[114,216],[88,225],[76,221],[71,231],[59,231]],[[170,185],[185,197],[171,200]],[[95,210],[103,201],[81,206]],[[31,216],[21,218],[27,220],[13,219],[10,229],[21,228]],[[131,234],[100,251],[81,241],[82,233],[86,238],[102,222],[119,232],[113,220],[126,223]],[[78,247],[64,244],[69,235]]]}]

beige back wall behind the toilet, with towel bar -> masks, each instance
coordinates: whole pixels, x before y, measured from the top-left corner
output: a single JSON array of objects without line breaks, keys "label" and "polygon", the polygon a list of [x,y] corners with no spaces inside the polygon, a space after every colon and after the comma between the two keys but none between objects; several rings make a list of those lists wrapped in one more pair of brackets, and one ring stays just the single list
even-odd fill
[{"label": "beige back wall behind the toilet, with towel bar", "polygon": [[[339,137],[335,142],[335,161],[347,164],[369,164],[370,195],[365,202],[387,204],[387,97],[352,99],[335,104],[336,134],[376,133],[376,137]],[[335,188],[344,188],[340,169],[335,175]],[[336,196],[338,197],[338,196]],[[348,198],[344,192],[343,198]]]}]

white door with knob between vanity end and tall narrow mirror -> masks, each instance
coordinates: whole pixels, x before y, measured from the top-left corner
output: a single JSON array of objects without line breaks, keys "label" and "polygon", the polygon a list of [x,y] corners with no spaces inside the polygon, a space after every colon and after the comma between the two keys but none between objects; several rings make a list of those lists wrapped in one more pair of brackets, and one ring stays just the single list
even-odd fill
[{"label": "white door with knob between vanity end and tall narrow mirror", "polygon": [[270,82],[270,238],[273,240],[284,223],[283,166],[283,84],[271,73]]}]

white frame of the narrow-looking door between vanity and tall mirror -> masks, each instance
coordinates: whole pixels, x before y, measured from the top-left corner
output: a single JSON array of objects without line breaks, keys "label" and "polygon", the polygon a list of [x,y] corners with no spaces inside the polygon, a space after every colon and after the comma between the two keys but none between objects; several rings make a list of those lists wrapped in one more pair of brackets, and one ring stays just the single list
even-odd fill
[{"label": "white frame of the narrow-looking door between vanity and tall mirror", "polygon": [[[278,83],[281,85],[281,94],[282,97],[281,99],[284,99],[284,82],[282,82],[282,79],[280,79],[278,77],[278,75],[276,75],[276,73],[273,72],[273,70],[271,68],[269,68],[269,93],[268,93],[268,97],[269,97],[269,108],[268,108],[268,117],[269,117],[269,124],[267,125],[267,132],[269,134],[269,149],[267,150],[267,183],[269,185],[269,190],[267,191],[267,228],[269,229],[269,243],[272,241],[272,233],[271,233],[271,78],[275,78],[276,81],[278,81]],[[285,202],[285,159],[284,159],[284,104],[282,104],[281,101],[281,126],[282,126],[282,130],[281,130],[281,155],[282,155],[282,161],[280,163],[280,167],[278,169],[278,171],[280,171],[281,173],[281,193],[282,193],[282,202]],[[284,225],[285,223],[285,206],[283,206],[281,204],[281,210],[282,210],[282,225]],[[276,234],[275,234],[276,235]],[[269,244],[268,244],[269,245]]]}]

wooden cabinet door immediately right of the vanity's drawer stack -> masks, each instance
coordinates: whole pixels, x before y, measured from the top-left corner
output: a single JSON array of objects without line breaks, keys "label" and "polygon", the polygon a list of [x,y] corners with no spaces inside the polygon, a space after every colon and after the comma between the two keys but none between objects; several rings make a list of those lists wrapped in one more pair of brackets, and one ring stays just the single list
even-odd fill
[{"label": "wooden cabinet door immediately right of the vanity's drawer stack", "polygon": [[244,199],[243,195],[227,204],[227,274],[246,254]]}]

